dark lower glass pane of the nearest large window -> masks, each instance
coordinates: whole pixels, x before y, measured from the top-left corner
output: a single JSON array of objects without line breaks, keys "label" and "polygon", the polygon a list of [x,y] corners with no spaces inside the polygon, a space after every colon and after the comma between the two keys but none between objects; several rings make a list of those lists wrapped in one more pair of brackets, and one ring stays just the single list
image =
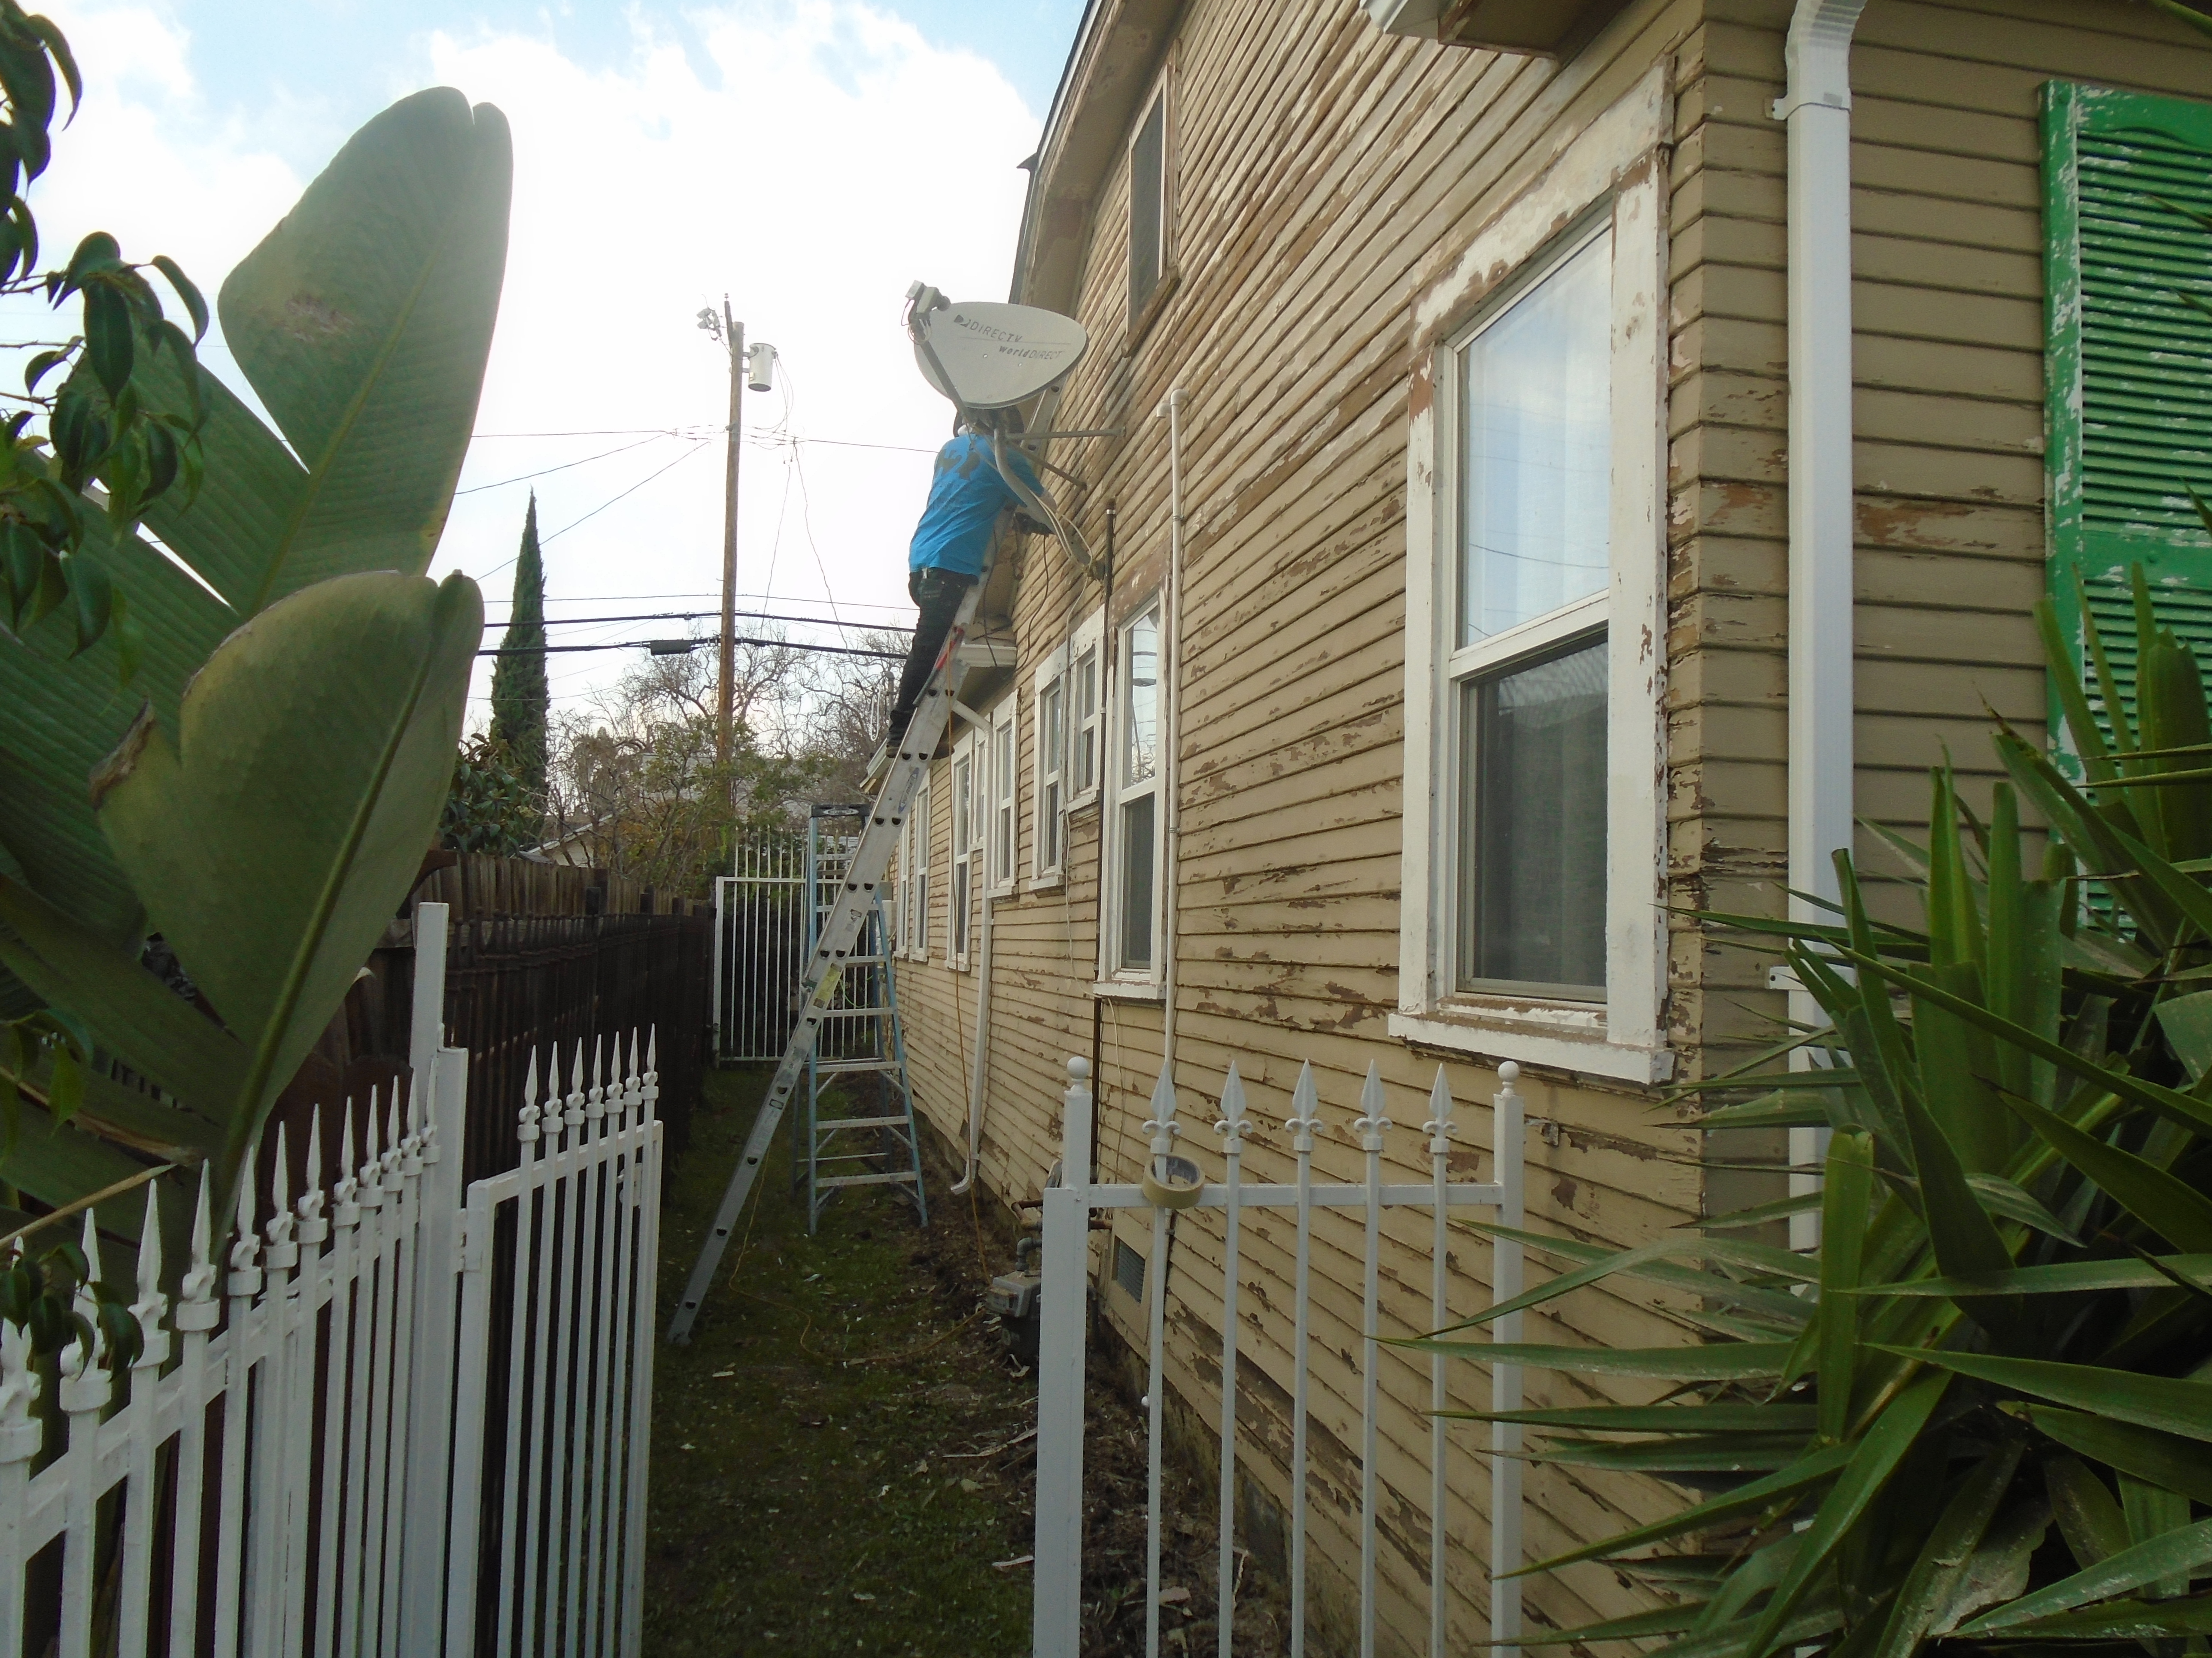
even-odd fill
[{"label": "dark lower glass pane of the nearest large window", "polygon": [[1606,984],[1606,641],[1462,685],[1460,988]]}]

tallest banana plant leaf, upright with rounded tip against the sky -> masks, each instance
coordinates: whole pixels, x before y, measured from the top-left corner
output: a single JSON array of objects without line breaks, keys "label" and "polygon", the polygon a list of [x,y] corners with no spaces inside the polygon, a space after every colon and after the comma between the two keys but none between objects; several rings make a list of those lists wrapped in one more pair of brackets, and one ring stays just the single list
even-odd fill
[{"label": "tallest banana plant leaf, upright with rounded tip against the sky", "polygon": [[[86,513],[88,557],[144,628],[133,690],[166,732],[192,674],[270,604],[325,577],[427,568],[491,349],[511,170],[495,108],[416,93],[361,128],[223,283],[226,338],[283,438],[204,376],[204,482],[192,500],[161,495],[146,520],[199,579]],[[55,612],[0,648],[0,873],[135,953],[142,889],[86,778],[131,734],[137,699],[115,694],[113,637],[73,646]],[[252,889],[237,902],[243,917]],[[197,977],[197,962],[186,968]],[[0,973],[0,1012],[29,1006]]]}]

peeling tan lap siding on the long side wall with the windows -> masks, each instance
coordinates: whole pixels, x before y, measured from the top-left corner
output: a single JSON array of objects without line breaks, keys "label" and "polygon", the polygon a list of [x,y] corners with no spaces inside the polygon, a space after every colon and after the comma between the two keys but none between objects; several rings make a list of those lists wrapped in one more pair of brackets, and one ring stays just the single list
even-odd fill
[{"label": "peeling tan lap siding on the long side wall with the windows", "polygon": [[[1055,462],[1097,548],[1117,506],[1115,615],[1159,588],[1168,553],[1166,422],[1183,396],[1186,599],[1181,690],[1181,864],[1177,1019],[1181,1150],[1219,1172],[1212,1121],[1234,1059],[1259,1127],[1252,1178],[1287,1172],[1281,1121],[1298,1066],[1312,1061],[1329,1123],[1318,1161],[1356,1178],[1349,1136],[1360,1079],[1380,1066],[1400,1121],[1394,1156],[1418,1152],[1436,1059],[1387,1035],[1398,999],[1400,822],[1405,776],[1405,429],[1409,303],[1418,287],[1537,172],[1562,135],[1621,97],[1694,27],[1694,4],[1639,2],[1564,73],[1535,60],[1391,40],[1354,7],[1307,0],[1254,9],[1192,4],[1175,42],[1177,292],[1126,351],[1126,181],[1099,190],[1077,314],[1093,351],[1060,411],[1066,427],[1121,427],[1121,438],[1064,442]],[[1033,844],[1031,668],[1097,604],[1051,544],[1024,550],[1015,599],[1022,732],[1022,856]],[[940,778],[949,767],[938,767]],[[942,789],[942,785],[940,785]],[[942,807],[940,807],[942,816]],[[942,831],[940,831],[942,833]],[[1064,1061],[1091,1050],[1097,818],[1071,829],[1064,889],[1002,900],[995,917],[984,1183],[1020,1200],[1057,1156]],[[938,935],[942,940],[942,931]],[[967,1090],[953,1052],[969,1046],[949,1008],[973,1017],[973,975],[931,966],[947,988],[931,1006],[925,1112],[960,1134]],[[949,988],[958,979],[958,990]],[[916,1046],[922,1046],[918,1026]],[[1099,1165],[1133,1178],[1144,1156],[1161,1052],[1161,1010],[1108,1001],[1099,1012]],[[1491,1167],[1495,1077],[1447,1066],[1460,1101],[1464,1172]],[[1644,1094],[1524,1083],[1531,1132],[1531,1225],[1635,1242],[1699,1205],[1694,1136]],[[936,1099],[929,1099],[936,1094]],[[1427,1165],[1394,1169],[1422,1178]],[[1464,1174],[1462,1174],[1464,1178]],[[1150,1220],[1121,1216],[1117,1236],[1150,1249]],[[1241,1271],[1245,1329],[1239,1448],[1265,1501],[1287,1508],[1290,1267],[1287,1225],[1254,1218]],[[1212,1421],[1219,1393],[1219,1218],[1177,1222],[1170,1287],[1170,1379]],[[1104,1256],[1099,1258],[1104,1265]],[[1455,1234],[1453,1307],[1489,1289],[1489,1247]],[[1352,1218],[1316,1231],[1314,1561],[1336,1574],[1325,1616],[1343,1616],[1356,1559],[1358,1280]],[[1427,1222],[1398,1216],[1383,1253],[1385,1322],[1427,1324]],[[1126,1337],[1141,1311],[1102,1291]],[[1688,1324],[1648,1295],[1577,1295],[1533,1335],[1584,1342],[1683,1340]],[[1349,1360],[1345,1355],[1352,1355]],[[1548,1402],[1590,1395],[1568,1377],[1531,1377]],[[1385,1360],[1385,1623],[1425,1623],[1427,1366]],[[1480,1404],[1486,1377],[1455,1366],[1453,1397]],[[1453,1461],[1455,1640],[1482,1634],[1486,1477],[1460,1439]],[[1533,1470],[1533,1556],[1659,1512],[1639,1481]],[[1632,1592],[1604,1570],[1531,1585],[1540,1620],[1626,1612]],[[1334,1614],[1329,1612],[1334,1607]]]}]

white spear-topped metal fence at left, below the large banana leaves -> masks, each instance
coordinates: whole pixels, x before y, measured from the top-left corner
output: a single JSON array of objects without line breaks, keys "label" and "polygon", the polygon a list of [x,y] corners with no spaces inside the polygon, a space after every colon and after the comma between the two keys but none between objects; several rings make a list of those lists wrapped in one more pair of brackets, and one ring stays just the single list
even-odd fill
[{"label": "white spear-topped metal fence at left, below the large banana leaves", "polygon": [[[115,1658],[639,1651],[653,1035],[588,1066],[580,1048],[566,1092],[549,1054],[544,1096],[533,1057],[520,1167],[462,1192],[442,904],[416,937],[405,1110],[347,1105],[336,1178],[296,1203],[279,1141],[274,1189],[243,1183],[228,1238],[204,1183],[175,1304],[148,1187],[128,1404],[97,1351],[64,1349],[69,1448],[38,1475],[40,1377],[0,1331],[0,1658],[31,1649],[33,1612],[51,1623],[55,1567],[60,1658],[93,1658],[95,1631]],[[319,1172],[321,1119],[312,1141]],[[97,1256],[88,1218],[84,1236]]]}]

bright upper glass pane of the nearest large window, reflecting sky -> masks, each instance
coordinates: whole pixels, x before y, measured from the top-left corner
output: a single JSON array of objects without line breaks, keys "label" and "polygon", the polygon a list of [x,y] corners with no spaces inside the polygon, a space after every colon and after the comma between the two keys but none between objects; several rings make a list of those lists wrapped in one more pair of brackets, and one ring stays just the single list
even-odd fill
[{"label": "bright upper glass pane of the nearest large window, reflecting sky", "polygon": [[1460,643],[1606,584],[1613,232],[1460,351]]}]

